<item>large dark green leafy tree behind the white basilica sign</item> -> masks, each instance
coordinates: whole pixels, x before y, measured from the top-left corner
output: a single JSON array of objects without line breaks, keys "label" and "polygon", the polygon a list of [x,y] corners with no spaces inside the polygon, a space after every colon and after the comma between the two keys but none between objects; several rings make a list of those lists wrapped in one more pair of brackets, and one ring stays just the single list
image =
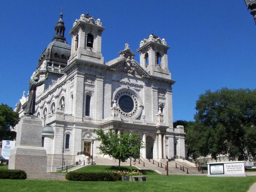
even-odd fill
[{"label": "large dark green leafy tree behind the white basilica sign", "polygon": [[[244,160],[248,158],[246,151],[254,154],[255,145],[246,142],[245,136],[256,123],[256,89],[224,87],[215,92],[207,90],[196,101],[196,110],[194,118],[198,137],[193,138],[193,133],[190,133],[197,129],[194,127],[188,130],[187,140],[191,144],[196,139],[204,145],[195,150],[198,155],[205,156],[208,151],[212,158],[217,159],[217,155],[228,152],[229,159]],[[250,136],[251,140],[256,140],[255,134]]]}]

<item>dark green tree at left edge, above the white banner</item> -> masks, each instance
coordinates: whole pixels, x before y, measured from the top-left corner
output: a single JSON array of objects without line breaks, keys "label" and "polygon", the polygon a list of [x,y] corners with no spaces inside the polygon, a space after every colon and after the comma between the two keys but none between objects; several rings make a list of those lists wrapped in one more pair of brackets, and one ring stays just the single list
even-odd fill
[{"label": "dark green tree at left edge, above the white banner", "polygon": [[0,142],[2,140],[16,139],[16,132],[11,131],[10,127],[18,124],[20,118],[17,112],[14,112],[8,105],[0,105]]}]

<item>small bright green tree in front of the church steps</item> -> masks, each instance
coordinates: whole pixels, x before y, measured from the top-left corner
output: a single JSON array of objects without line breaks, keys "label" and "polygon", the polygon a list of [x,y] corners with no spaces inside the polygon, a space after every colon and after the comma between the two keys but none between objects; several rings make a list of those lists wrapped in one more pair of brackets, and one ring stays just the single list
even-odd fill
[{"label": "small bright green tree in front of the church steps", "polygon": [[100,150],[99,154],[109,155],[120,162],[125,162],[129,157],[140,157],[140,149],[145,147],[145,144],[140,139],[139,134],[132,132],[121,134],[120,136],[112,130],[104,133],[102,129],[94,129],[94,133],[98,135],[96,141],[101,144],[97,147]]}]

